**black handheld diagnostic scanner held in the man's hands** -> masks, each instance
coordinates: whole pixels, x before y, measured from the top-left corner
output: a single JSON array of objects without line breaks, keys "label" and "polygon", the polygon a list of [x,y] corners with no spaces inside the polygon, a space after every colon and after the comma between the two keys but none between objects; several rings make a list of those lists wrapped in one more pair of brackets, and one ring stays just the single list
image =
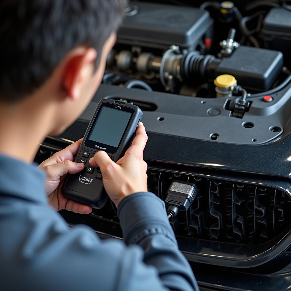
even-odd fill
[{"label": "black handheld diagnostic scanner held in the man's hands", "polygon": [[89,164],[89,159],[99,150],[118,161],[130,146],[143,113],[135,105],[118,100],[102,99],[86,130],[75,162],[84,163],[84,170],[68,174],[62,194],[66,198],[102,208],[107,201],[99,168]]}]

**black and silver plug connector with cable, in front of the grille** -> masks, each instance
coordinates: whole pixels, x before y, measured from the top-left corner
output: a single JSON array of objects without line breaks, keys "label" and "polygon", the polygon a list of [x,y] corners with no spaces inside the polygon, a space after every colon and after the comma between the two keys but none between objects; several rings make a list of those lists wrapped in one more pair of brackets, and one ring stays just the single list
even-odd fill
[{"label": "black and silver plug connector with cable, in front of the grille", "polygon": [[195,184],[174,180],[165,199],[168,219],[177,215],[179,210],[187,211],[198,193]]}]

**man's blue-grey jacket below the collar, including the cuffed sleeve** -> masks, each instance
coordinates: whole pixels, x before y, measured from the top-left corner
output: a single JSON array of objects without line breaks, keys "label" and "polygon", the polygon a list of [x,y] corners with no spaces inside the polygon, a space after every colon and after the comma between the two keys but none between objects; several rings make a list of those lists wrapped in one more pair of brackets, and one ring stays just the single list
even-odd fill
[{"label": "man's blue-grey jacket below the collar, including the cuffed sleeve", "polygon": [[125,242],[69,228],[45,203],[0,203],[3,290],[198,290],[162,200],[133,194],[118,215]]}]

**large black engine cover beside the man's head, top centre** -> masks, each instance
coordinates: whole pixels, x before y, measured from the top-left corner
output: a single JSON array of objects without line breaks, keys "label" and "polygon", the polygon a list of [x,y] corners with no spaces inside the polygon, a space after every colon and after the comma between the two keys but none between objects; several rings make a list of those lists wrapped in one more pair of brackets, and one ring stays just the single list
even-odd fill
[{"label": "large black engine cover beside the man's head, top centre", "polygon": [[189,48],[197,45],[212,26],[208,11],[198,8],[130,2],[136,14],[126,16],[118,31],[118,42],[131,45]]}]

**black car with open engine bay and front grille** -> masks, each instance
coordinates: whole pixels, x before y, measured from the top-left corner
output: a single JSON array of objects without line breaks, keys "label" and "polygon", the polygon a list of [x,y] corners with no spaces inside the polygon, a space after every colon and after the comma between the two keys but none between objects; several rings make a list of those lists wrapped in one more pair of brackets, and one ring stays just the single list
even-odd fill
[{"label": "black car with open engine bay and front grille", "polygon": [[[287,1],[288,2],[288,1]],[[286,290],[291,276],[291,6],[286,1],[132,1],[92,102],[35,161],[82,138],[99,100],[143,111],[148,190],[194,183],[170,220],[201,290]],[[122,238],[110,201],[61,211]],[[209,275],[211,274],[211,276]],[[251,280],[244,280],[248,276]]]}]

